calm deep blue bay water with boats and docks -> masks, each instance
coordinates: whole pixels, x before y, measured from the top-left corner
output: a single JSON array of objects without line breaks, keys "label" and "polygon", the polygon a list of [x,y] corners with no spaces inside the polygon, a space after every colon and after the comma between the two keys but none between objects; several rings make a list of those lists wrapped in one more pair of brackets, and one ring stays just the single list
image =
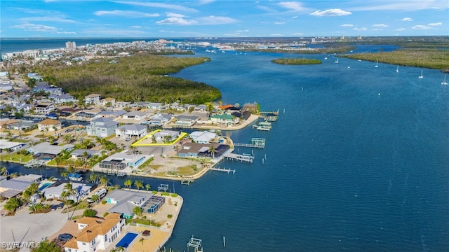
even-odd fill
[{"label": "calm deep blue bay water with boats and docks", "polygon": [[[169,182],[185,202],[167,248],[187,251],[194,235],[205,251],[449,251],[443,73],[424,69],[420,79],[421,69],[400,66],[396,73],[393,65],[351,59],[335,64],[329,55],[315,66],[270,63],[297,55],[196,56],[204,55],[212,61],[174,76],[219,88],[225,104],[257,101],[281,115],[270,132],[230,132],[241,143],[267,139],[266,148],[253,150],[253,164],[222,162],[236,174],[208,172],[191,186]],[[167,181],[145,183],[156,188]]]}]

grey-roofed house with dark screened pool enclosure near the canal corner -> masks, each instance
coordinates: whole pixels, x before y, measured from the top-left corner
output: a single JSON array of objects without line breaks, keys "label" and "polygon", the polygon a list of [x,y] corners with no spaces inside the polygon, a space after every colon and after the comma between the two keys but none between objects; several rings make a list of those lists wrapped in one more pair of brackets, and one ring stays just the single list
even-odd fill
[{"label": "grey-roofed house with dark screened pool enclosure near the canal corner", "polygon": [[109,212],[132,218],[135,207],[142,208],[144,213],[155,214],[165,203],[165,197],[155,196],[145,191],[116,189],[106,196],[106,202],[115,204]]}]

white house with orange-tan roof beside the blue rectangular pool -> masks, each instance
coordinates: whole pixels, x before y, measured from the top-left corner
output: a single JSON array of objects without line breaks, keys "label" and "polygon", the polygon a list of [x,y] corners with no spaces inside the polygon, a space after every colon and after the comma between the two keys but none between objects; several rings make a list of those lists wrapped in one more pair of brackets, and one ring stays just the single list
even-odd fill
[{"label": "white house with orange-tan roof beside the blue rectangular pool", "polygon": [[64,244],[65,252],[105,251],[119,237],[126,221],[121,214],[110,213],[105,218],[85,216],[76,224],[79,233]]}]

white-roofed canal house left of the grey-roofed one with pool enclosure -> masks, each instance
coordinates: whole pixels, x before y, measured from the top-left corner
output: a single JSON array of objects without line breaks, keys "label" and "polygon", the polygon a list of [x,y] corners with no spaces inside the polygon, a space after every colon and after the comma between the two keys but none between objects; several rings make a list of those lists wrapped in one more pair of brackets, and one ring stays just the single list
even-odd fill
[{"label": "white-roofed canal house left of the grey-roofed one with pool enclosure", "polygon": [[[72,188],[75,190],[75,194],[64,199],[62,197],[62,192],[64,192],[65,184],[72,183]],[[84,183],[81,181],[69,182],[69,181],[56,181],[46,188],[42,189],[43,195],[47,199],[59,199],[59,200],[73,200],[74,202],[79,202],[83,197],[86,197],[92,190],[94,190],[97,186],[92,183]]]}]

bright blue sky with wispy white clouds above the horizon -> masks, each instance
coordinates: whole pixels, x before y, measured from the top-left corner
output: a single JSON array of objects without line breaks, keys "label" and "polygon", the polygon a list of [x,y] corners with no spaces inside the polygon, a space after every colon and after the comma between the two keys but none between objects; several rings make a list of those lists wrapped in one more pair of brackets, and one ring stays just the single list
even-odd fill
[{"label": "bright blue sky with wispy white clouds above the horizon", "polygon": [[449,35],[447,0],[0,0],[0,36]]}]

